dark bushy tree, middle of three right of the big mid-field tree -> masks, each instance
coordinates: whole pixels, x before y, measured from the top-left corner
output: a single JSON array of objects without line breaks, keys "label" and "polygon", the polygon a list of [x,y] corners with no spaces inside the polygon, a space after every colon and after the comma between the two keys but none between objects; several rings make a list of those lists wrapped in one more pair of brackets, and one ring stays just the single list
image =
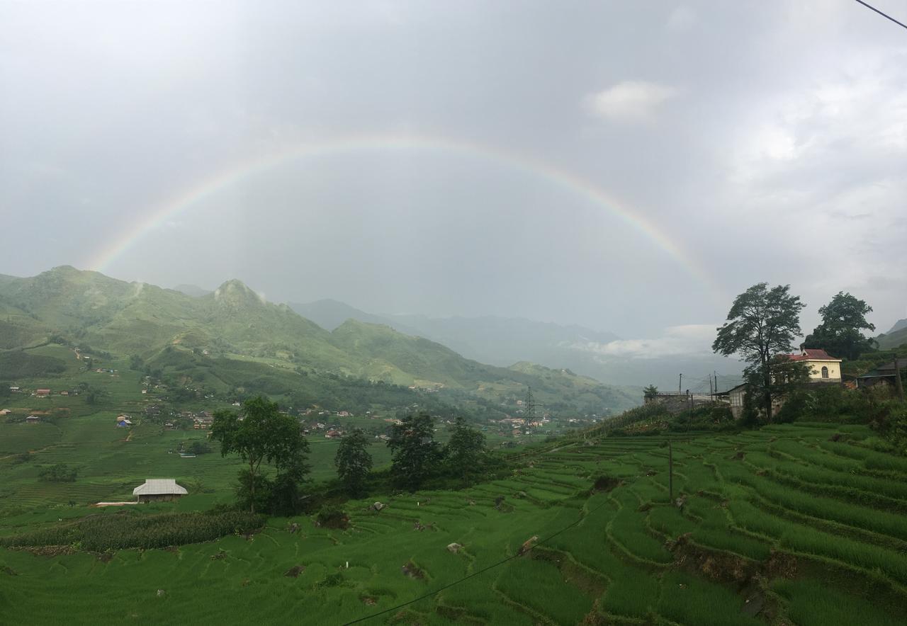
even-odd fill
[{"label": "dark bushy tree, middle of three right of the big mid-field tree", "polygon": [[434,440],[434,419],[427,413],[408,415],[391,429],[391,476],[397,486],[415,491],[437,469],[441,446]]}]

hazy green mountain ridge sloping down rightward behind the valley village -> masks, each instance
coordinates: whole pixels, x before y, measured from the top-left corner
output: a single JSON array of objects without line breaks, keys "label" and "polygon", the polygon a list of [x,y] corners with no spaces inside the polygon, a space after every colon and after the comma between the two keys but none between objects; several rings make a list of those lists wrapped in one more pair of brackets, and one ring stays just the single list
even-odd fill
[{"label": "hazy green mountain ridge sloping down rightward behind the valley village", "polygon": [[[230,372],[241,366],[243,376],[258,377],[273,392],[302,384],[292,376],[306,376],[309,388],[312,377],[333,376],[453,390],[494,402],[522,397],[532,386],[551,407],[588,412],[639,403],[635,390],[525,362],[486,365],[370,318],[346,315],[339,325],[326,323],[331,307],[322,308],[321,323],[331,330],[286,304],[265,302],[237,280],[208,294],[187,295],[63,266],[30,278],[0,279],[0,349],[48,341],[89,345],[114,356],[136,355],[165,372],[186,371],[221,389],[237,384]],[[334,307],[332,319],[342,313]],[[0,367],[0,378],[15,375]]]}]

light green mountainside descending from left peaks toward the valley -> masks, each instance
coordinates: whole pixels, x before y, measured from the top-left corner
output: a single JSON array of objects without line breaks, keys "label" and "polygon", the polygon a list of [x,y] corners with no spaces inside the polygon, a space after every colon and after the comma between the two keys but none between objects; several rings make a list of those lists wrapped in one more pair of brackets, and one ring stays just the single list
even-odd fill
[{"label": "light green mountainside descending from left peaks toward the valley", "polygon": [[[568,371],[470,361],[379,324],[349,321],[328,332],[239,281],[192,297],[58,267],[0,283],[0,317],[10,330],[0,350],[15,349],[0,352],[0,380],[59,374],[65,361],[96,369],[122,358],[123,369],[166,379],[179,400],[196,393],[232,399],[241,388],[297,407],[354,401],[364,412],[375,404],[424,405],[414,390],[430,390],[432,403],[462,406],[463,394],[476,404],[473,411],[500,414],[502,400],[532,385],[541,401],[574,415],[617,412],[639,401]],[[42,342],[78,348],[80,358],[69,352],[61,364],[21,352]]]}]

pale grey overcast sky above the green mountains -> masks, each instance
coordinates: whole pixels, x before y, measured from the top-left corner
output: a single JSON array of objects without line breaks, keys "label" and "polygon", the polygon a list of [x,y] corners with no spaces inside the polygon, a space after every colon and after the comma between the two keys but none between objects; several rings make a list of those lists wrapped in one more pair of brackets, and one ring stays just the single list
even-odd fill
[{"label": "pale grey overcast sky above the green mountains", "polygon": [[603,354],[707,350],[759,281],[805,330],[840,290],[907,316],[907,30],[853,0],[4,0],[0,93],[3,274],[237,277]]}]

